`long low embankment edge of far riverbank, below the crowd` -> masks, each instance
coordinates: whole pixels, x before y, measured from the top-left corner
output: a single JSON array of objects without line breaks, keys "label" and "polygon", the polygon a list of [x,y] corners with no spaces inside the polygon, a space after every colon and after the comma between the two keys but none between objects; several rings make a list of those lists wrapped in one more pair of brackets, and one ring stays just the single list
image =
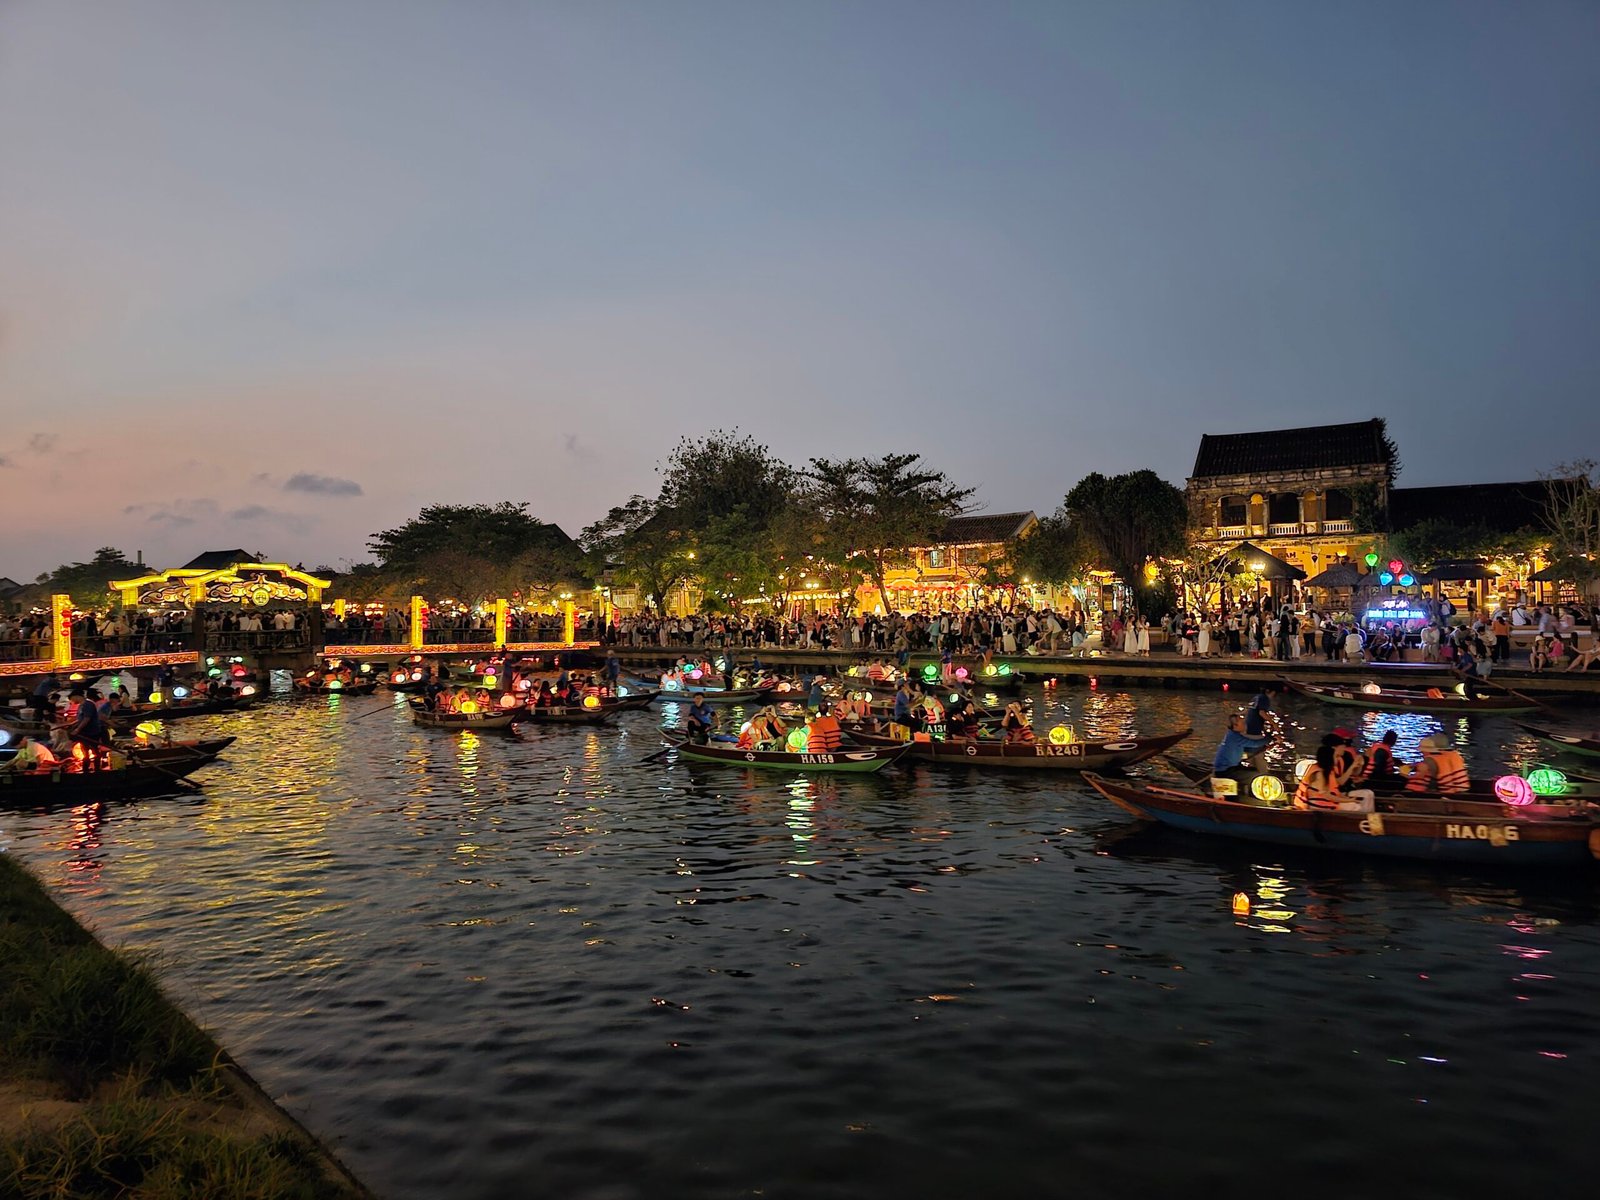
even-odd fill
[{"label": "long low embankment edge of far riverbank, below the crowd", "polygon": [[[621,662],[630,667],[666,667],[678,656],[691,653],[722,653],[717,646],[613,646]],[[603,653],[603,651],[594,651]],[[893,659],[888,653],[862,654],[850,650],[810,650],[798,646],[739,646],[734,650],[739,662],[760,658],[763,664],[782,670],[818,670],[834,674],[872,658]],[[1525,666],[1501,666],[1490,677],[1490,685],[1525,691],[1541,698],[1573,698],[1586,704],[1600,704],[1600,670],[1544,670],[1531,672]],[[920,670],[939,662],[928,651],[912,651],[909,666]],[[974,656],[957,656],[958,664],[974,662]],[[1147,686],[1147,688],[1270,688],[1285,675],[1306,680],[1344,682],[1392,682],[1395,686],[1454,686],[1458,677],[1443,664],[1435,662],[1330,662],[1322,656],[1298,659],[1251,658],[1248,654],[1186,658],[1176,650],[1154,648],[1150,654],[1125,654],[1102,651],[1093,646],[1074,654],[997,654],[995,664],[1008,664],[1013,672],[1030,680],[1054,678],[1062,685],[1083,686]]]}]

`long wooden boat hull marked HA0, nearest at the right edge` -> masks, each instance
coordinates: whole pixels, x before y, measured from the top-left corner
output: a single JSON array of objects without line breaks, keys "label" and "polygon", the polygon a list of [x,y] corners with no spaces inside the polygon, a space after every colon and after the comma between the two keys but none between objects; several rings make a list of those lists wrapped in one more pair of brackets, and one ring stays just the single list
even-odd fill
[{"label": "long wooden boat hull marked HA0, nearest at the right edge", "polygon": [[1522,819],[1504,810],[1454,813],[1328,813],[1218,800],[1144,781],[1083,779],[1141,821],[1277,846],[1498,866],[1579,866],[1600,858],[1600,826],[1587,816]]}]

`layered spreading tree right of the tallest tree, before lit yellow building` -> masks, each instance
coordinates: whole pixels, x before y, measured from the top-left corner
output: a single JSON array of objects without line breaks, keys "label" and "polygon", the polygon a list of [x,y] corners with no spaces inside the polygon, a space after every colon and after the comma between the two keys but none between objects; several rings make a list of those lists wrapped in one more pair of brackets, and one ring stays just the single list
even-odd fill
[{"label": "layered spreading tree right of the tallest tree, before lit yellow building", "polygon": [[806,502],[829,526],[835,565],[854,560],[885,602],[890,570],[910,562],[917,547],[938,542],[974,491],[926,466],[922,454],[814,458],[806,480]]}]

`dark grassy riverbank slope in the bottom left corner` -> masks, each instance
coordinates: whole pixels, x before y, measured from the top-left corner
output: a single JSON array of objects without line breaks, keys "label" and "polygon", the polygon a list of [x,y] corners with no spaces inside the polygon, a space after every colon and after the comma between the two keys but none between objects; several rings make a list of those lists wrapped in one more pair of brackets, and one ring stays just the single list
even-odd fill
[{"label": "dark grassy riverbank slope in the bottom left corner", "polygon": [[0,853],[0,1197],[370,1200],[184,1016]]}]

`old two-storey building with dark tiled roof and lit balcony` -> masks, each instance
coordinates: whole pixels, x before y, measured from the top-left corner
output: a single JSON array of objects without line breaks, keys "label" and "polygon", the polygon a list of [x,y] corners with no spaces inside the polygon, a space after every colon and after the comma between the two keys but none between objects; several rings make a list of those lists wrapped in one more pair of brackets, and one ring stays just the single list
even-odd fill
[{"label": "old two-storey building with dark tiled roof and lit balcony", "polygon": [[1394,472],[1382,418],[1206,434],[1186,486],[1190,530],[1218,552],[1253,542],[1317,574],[1365,554]]}]

